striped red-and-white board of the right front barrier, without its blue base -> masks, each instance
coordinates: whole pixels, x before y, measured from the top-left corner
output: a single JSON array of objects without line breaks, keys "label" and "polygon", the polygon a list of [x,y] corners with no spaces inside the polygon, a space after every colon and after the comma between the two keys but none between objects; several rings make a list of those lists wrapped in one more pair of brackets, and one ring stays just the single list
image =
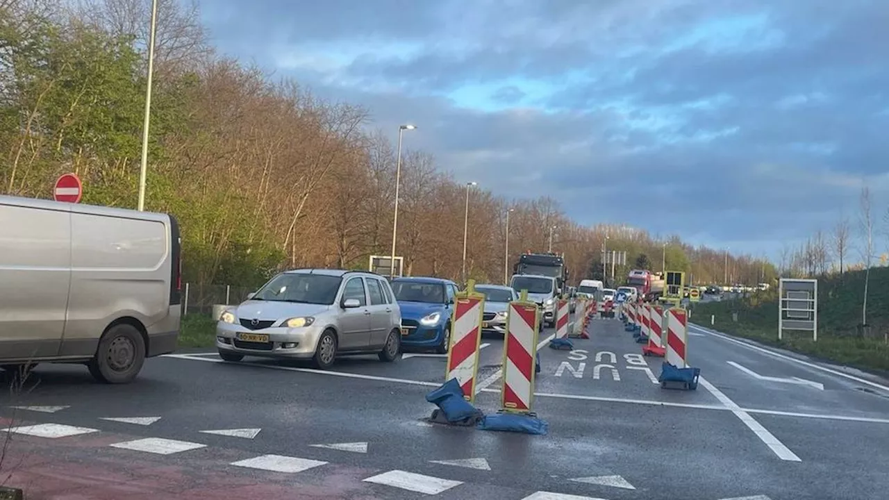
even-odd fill
[{"label": "striped red-and-white board of the right front barrier, without its blue base", "polygon": [[527,294],[509,302],[506,338],[503,339],[503,411],[528,414],[534,399],[534,367],[537,356],[537,304]]}]

